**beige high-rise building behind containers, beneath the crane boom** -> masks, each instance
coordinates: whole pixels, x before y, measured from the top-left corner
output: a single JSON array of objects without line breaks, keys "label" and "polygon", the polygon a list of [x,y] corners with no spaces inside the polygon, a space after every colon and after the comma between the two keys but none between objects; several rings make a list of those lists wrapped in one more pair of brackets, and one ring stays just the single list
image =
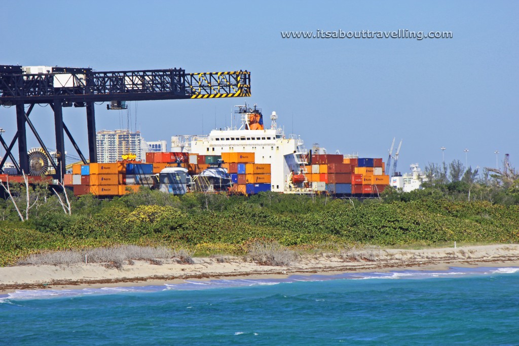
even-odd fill
[{"label": "beige high-rise building behind containers, beneath the crane boom", "polygon": [[[98,162],[110,163],[121,161],[123,154],[135,154],[137,161],[142,161],[143,142],[140,131],[101,130],[97,132]],[[145,155],[145,154],[144,154]]]}]

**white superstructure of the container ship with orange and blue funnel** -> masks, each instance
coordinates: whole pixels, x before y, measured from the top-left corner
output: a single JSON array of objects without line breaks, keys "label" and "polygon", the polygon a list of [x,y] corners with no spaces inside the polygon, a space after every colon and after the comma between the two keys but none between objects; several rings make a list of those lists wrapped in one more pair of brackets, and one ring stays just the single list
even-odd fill
[{"label": "white superstructure of the container ship with orange and blue funnel", "polygon": [[[255,163],[271,165],[271,190],[283,192],[288,189],[287,177],[292,171],[300,171],[308,163],[308,152],[300,137],[285,137],[282,128],[277,127],[276,112],[270,116],[270,129],[263,128],[261,110],[239,106],[241,127],[212,130],[208,136],[193,137],[190,152],[198,155],[222,155],[222,153],[254,153]],[[260,124],[251,124],[250,119],[259,114]],[[256,126],[254,126],[256,125]],[[260,129],[258,129],[260,128]]]}]

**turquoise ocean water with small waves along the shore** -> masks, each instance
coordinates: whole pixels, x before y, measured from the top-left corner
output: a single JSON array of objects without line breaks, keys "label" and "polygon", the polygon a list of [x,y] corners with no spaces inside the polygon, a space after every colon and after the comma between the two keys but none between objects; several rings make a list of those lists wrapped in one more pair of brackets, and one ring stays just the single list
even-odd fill
[{"label": "turquoise ocean water with small waves along the shore", "polygon": [[2,345],[519,345],[519,268],[0,296]]}]

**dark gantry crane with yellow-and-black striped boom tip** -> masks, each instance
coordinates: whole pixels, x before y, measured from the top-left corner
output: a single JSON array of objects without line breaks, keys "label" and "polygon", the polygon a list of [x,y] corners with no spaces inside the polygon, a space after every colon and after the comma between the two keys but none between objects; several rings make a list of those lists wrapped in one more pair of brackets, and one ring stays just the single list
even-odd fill
[{"label": "dark gantry crane with yellow-and-black striped boom tip", "polygon": [[[34,67],[39,69],[35,70]],[[31,128],[45,154],[51,157],[29,119],[35,104],[49,104],[54,113],[57,162],[51,159],[50,164],[56,170],[56,178],[61,180],[65,174],[65,164],[61,159],[65,152],[64,133],[81,161],[87,163],[69,128],[63,123],[63,107],[74,105],[86,108],[89,159],[95,163],[94,102],[112,102],[120,108],[121,103],[126,101],[247,96],[251,96],[250,72],[241,70],[207,73],[185,73],[183,69],[95,72],[91,68],[0,65],[0,105],[14,105],[17,121],[17,132],[9,145],[0,134],[0,143],[6,151],[0,162],[0,170],[10,157],[18,172],[29,172],[25,124]],[[29,105],[27,110],[25,104]],[[17,141],[19,165],[11,153]]]}]

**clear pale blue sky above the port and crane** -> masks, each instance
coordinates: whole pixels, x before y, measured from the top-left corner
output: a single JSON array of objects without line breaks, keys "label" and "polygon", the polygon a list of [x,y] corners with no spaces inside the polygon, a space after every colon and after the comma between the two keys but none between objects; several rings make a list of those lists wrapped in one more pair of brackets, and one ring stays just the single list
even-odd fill
[{"label": "clear pale blue sky above the port and crane", "polygon": [[[148,140],[206,134],[230,123],[233,105],[276,111],[307,148],[387,158],[403,139],[399,170],[460,159],[519,166],[519,3],[3,1],[0,64],[92,66],[97,71],[183,68],[249,70],[252,97],[140,101],[132,128]],[[282,39],[280,31],[452,31],[450,39]],[[95,109],[97,129],[128,123],[128,112]],[[14,108],[0,108],[9,141]],[[51,110],[34,119],[54,147]],[[64,109],[88,152],[85,109]],[[203,119],[203,127],[202,127]],[[292,125],[293,124],[293,125]],[[29,129],[28,129],[29,130]],[[37,142],[28,134],[29,147]],[[65,143],[69,153],[72,145]],[[2,149],[3,152],[3,149]]]}]

